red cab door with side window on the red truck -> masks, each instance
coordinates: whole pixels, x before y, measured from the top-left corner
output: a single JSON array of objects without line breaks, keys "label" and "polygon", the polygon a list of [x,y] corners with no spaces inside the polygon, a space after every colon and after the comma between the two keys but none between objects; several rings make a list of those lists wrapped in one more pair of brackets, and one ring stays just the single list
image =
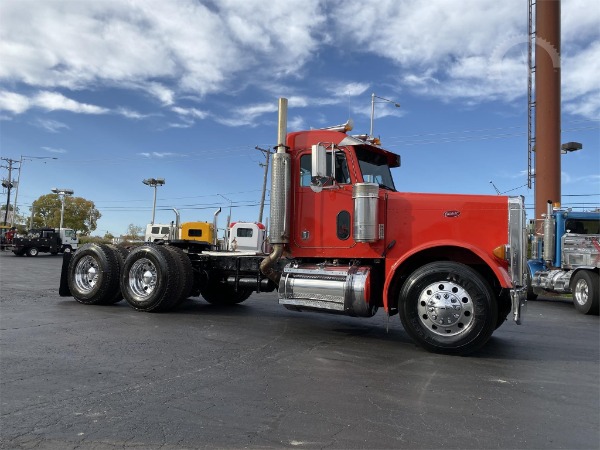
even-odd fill
[{"label": "red cab door with side window on the red truck", "polygon": [[352,247],[352,183],[357,179],[352,159],[344,149],[336,149],[334,156],[328,151],[325,178],[329,181],[316,192],[318,189],[311,188],[310,150],[296,158],[297,173],[292,177],[296,183],[292,244],[297,248],[322,249],[324,254],[327,249]]}]

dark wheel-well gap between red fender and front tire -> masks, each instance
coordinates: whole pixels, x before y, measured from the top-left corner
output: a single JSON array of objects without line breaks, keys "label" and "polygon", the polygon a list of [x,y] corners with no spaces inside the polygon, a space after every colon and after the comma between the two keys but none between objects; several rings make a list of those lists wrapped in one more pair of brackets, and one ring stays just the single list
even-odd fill
[{"label": "dark wheel-well gap between red fender and front tire", "polygon": [[500,295],[501,288],[498,279],[489,266],[475,253],[461,247],[435,247],[412,255],[396,269],[396,273],[394,273],[394,278],[388,291],[390,315],[394,315],[398,312],[398,294],[400,293],[400,289],[402,289],[404,281],[416,269],[432,261],[455,261],[466,264],[485,278],[498,299],[507,297]]}]

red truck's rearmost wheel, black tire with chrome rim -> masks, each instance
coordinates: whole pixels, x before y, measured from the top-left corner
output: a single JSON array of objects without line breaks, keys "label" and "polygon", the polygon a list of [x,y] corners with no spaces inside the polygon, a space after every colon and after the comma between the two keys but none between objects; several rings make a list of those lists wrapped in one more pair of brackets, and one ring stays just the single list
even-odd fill
[{"label": "red truck's rearmost wheel, black tire with chrome rim", "polygon": [[84,244],[69,261],[69,290],[79,303],[114,303],[119,291],[119,263],[105,244]]}]

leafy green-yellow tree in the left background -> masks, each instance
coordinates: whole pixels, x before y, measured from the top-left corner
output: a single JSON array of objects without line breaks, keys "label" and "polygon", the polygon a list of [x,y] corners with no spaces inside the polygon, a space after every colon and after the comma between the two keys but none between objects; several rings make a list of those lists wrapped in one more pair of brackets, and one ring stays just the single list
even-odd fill
[{"label": "leafy green-yellow tree in the left background", "polygon": [[[33,226],[58,228],[61,207],[62,202],[58,194],[42,195],[32,204]],[[91,200],[70,196],[65,198],[63,227],[73,228],[82,235],[89,235],[96,229],[100,217],[102,214]]]}]

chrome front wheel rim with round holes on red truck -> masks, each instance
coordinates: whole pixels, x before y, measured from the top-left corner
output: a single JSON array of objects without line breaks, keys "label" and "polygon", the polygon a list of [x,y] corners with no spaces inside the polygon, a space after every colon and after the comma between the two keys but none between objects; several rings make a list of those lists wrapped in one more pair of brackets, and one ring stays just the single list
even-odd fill
[{"label": "chrome front wheel rim with round holes on red truck", "polygon": [[457,336],[473,326],[473,300],[456,283],[432,283],[421,291],[418,302],[419,320],[434,334]]}]

